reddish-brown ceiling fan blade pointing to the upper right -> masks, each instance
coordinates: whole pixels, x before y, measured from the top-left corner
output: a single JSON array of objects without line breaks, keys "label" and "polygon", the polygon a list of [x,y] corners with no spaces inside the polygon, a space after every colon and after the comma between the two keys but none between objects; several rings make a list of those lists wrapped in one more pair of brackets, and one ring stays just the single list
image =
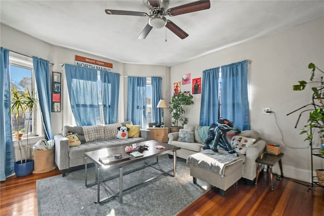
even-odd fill
[{"label": "reddish-brown ceiling fan blade pointing to the upper right", "polygon": [[211,2],[209,0],[197,1],[185,5],[181,5],[175,8],[170,8],[168,12],[170,13],[171,16],[177,16],[180,14],[187,14],[195,11],[206,10],[209,9],[210,7],[211,7]]}]

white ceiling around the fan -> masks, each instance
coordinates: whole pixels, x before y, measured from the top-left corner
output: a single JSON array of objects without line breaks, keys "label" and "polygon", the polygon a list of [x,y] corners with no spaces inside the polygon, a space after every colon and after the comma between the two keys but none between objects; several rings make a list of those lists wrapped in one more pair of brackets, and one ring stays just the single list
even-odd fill
[{"label": "white ceiling around the fan", "polygon": [[[169,8],[194,1],[170,0]],[[0,8],[2,23],[50,44],[120,62],[167,66],[324,17],[324,1],[212,0],[208,10],[167,17],[189,34],[186,39],[164,27],[138,40],[147,17],[104,10],[148,13],[143,0],[1,0]]]}]

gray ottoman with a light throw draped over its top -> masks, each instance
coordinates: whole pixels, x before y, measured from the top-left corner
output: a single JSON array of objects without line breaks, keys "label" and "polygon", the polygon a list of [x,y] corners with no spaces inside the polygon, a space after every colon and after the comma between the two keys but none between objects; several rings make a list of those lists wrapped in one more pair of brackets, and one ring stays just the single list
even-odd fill
[{"label": "gray ottoman with a light throw draped over its top", "polygon": [[196,178],[220,189],[222,197],[225,191],[242,177],[243,160],[236,154],[204,150],[187,158],[190,175],[197,185]]}]

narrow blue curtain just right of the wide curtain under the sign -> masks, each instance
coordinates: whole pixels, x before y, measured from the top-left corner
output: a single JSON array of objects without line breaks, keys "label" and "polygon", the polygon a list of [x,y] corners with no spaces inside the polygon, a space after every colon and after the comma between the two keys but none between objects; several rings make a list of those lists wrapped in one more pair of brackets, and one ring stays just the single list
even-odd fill
[{"label": "narrow blue curtain just right of the wide curtain under the sign", "polygon": [[105,124],[117,123],[120,75],[100,71],[102,108]]}]

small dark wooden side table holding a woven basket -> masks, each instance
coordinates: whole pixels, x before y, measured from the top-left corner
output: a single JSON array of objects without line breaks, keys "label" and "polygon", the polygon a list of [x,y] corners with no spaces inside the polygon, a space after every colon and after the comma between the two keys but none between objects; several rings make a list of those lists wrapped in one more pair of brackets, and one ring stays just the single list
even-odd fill
[{"label": "small dark wooden side table holding a woven basket", "polygon": [[255,180],[255,184],[258,184],[258,177],[261,170],[261,164],[265,164],[268,166],[269,172],[270,172],[270,182],[271,182],[271,190],[273,191],[273,181],[272,181],[272,166],[279,163],[280,171],[281,171],[281,177],[284,177],[284,174],[282,174],[282,162],[281,158],[284,157],[284,153],[280,153],[279,155],[271,155],[271,154],[262,154],[260,157],[256,159],[255,162],[258,163],[257,165],[257,177]]}]

